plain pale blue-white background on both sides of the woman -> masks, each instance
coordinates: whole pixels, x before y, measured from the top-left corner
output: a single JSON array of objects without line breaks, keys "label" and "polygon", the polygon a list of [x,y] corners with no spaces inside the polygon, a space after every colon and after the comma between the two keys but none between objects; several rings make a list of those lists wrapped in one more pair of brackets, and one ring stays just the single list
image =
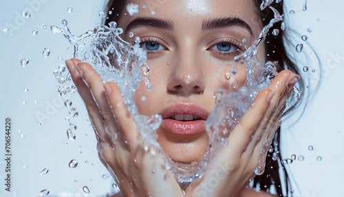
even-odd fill
[{"label": "plain pale blue-white background on both sides of the woman", "polygon": [[[71,98],[79,111],[78,118],[73,120],[78,126],[76,141],[67,139],[68,124],[64,117],[68,108],[57,96],[58,83],[52,72],[64,63],[58,56],[71,58],[73,48],[62,34],[52,34],[49,30],[50,25],[62,27],[62,19],[67,19],[76,35],[93,29],[100,21],[98,11],[103,10],[103,3],[103,0],[1,0],[0,27],[9,26],[10,31],[0,31],[0,196],[39,196],[42,189],[49,190],[49,196],[105,196],[113,190],[111,178],[102,178],[107,170],[98,160],[94,133],[76,94]],[[299,112],[283,122],[281,151],[283,158],[292,154],[304,157],[287,166],[294,196],[341,196],[344,177],[344,12],[341,9],[344,3],[308,0],[306,11],[302,10],[303,3],[304,0],[286,2],[286,31],[292,37],[289,51],[298,65],[310,68],[303,72],[310,87],[304,96],[303,116],[298,116],[303,110],[299,107]],[[73,8],[72,13],[67,12],[69,7]],[[32,16],[21,17],[23,10]],[[289,14],[290,10],[294,14]],[[47,30],[41,28],[42,24],[47,25]],[[33,36],[32,30],[38,30],[38,34]],[[301,35],[306,35],[308,40],[303,41]],[[294,50],[298,43],[304,45],[301,53]],[[49,57],[43,57],[43,48],[51,50]],[[23,58],[30,60],[25,67],[19,64]],[[321,81],[319,87],[314,81]],[[3,185],[6,117],[12,118],[11,192],[5,191]],[[309,146],[314,149],[310,151]],[[319,156],[320,161],[316,159]],[[74,169],[68,167],[72,159],[78,160]],[[40,176],[45,168],[49,172]],[[83,192],[83,186],[91,192]]]}]

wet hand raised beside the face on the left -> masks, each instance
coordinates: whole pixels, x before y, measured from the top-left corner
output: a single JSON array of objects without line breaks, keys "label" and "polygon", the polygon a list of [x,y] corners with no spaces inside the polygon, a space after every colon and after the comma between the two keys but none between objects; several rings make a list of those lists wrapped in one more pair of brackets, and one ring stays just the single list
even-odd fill
[{"label": "wet hand raised beside the face on the left", "polygon": [[66,61],[97,138],[98,156],[125,196],[182,196],[162,156],[146,144],[115,83],[78,59]]}]

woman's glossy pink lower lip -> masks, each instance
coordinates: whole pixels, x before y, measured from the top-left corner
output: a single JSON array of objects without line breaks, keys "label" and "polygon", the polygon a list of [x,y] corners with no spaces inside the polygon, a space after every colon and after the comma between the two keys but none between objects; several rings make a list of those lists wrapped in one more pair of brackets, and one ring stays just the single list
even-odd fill
[{"label": "woman's glossy pink lower lip", "polygon": [[164,119],[160,125],[162,129],[165,129],[173,134],[191,136],[200,134],[205,130],[205,121],[176,121],[173,119]]}]

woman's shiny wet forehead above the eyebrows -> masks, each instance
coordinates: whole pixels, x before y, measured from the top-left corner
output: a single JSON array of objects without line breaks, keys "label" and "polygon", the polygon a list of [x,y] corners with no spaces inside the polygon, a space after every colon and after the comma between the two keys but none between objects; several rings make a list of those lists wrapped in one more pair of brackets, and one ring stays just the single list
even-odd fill
[{"label": "woman's shiny wet forehead above the eyebrows", "polygon": [[176,25],[182,23],[199,23],[202,20],[217,17],[237,17],[250,26],[255,36],[261,30],[261,19],[257,14],[255,0],[129,0],[136,3],[140,12],[130,16],[123,10],[118,25],[126,25],[137,17],[155,17],[173,21]]}]

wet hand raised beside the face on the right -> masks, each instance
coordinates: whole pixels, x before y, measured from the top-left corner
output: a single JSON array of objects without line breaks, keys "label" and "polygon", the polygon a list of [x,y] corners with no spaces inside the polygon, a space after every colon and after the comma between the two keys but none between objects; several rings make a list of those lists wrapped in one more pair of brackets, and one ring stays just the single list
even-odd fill
[{"label": "wet hand raised beside the face on the right", "polygon": [[299,79],[299,75],[283,70],[268,88],[259,92],[204,177],[186,189],[186,196],[239,196],[256,173],[264,171],[266,154],[281,123],[286,100]]}]

